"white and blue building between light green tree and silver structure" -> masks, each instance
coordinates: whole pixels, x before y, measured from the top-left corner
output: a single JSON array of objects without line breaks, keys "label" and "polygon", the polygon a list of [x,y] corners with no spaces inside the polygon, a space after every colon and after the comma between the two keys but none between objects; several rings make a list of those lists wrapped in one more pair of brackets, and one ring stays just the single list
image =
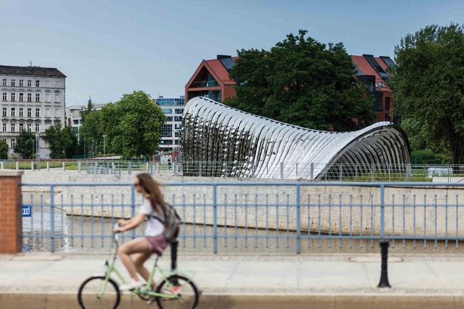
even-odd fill
[{"label": "white and blue building between light green tree and silver structure", "polygon": [[161,128],[160,151],[175,151],[180,148],[180,130],[182,129],[182,114],[184,113],[185,96],[180,98],[154,99],[163,113],[166,115],[166,123]]}]

